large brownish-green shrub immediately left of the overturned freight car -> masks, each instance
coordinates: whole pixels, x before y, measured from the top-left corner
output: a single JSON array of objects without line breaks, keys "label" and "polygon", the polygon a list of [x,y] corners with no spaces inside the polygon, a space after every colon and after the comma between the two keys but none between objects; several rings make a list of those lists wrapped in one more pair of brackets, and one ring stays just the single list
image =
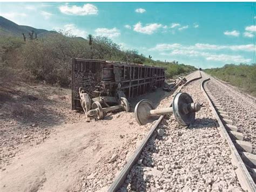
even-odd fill
[{"label": "large brownish-green shrub immediately left of the overturned freight car", "polygon": [[21,63],[39,81],[69,86],[72,57],[89,57],[86,42],[57,33],[46,39],[27,42],[22,47]]}]

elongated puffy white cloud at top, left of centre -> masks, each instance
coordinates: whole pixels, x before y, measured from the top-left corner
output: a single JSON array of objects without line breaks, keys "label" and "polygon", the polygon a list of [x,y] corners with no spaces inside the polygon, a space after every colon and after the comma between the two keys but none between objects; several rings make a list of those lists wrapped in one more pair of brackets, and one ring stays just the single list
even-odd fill
[{"label": "elongated puffy white cloud at top, left of centre", "polygon": [[97,15],[98,14],[98,8],[95,5],[92,4],[84,4],[84,6],[69,6],[68,4],[62,5],[59,7],[59,10],[62,13],[65,13],[67,15]]}]

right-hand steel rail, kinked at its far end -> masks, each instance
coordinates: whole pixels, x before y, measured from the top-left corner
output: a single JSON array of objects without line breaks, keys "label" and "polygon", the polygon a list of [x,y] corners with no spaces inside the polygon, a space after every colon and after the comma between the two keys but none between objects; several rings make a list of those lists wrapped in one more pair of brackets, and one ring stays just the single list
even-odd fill
[{"label": "right-hand steel rail, kinked at its far end", "polygon": [[213,103],[210,100],[210,97],[208,97],[208,94],[205,90],[205,85],[207,84],[207,82],[209,80],[210,80],[210,78],[205,79],[201,83],[201,91],[203,92],[206,99],[208,100],[209,105],[212,109],[212,113],[218,121],[221,136],[223,136],[223,138],[226,139],[226,141],[228,143],[228,146],[231,149],[231,162],[234,166],[237,166],[237,169],[235,170],[235,173],[237,174],[237,177],[238,177],[238,180],[240,182],[240,185],[241,185],[242,189],[247,190],[249,192],[255,192],[256,187],[255,187],[255,183],[252,179],[252,176],[248,172],[244,161],[242,161],[241,156],[239,155],[237,148],[235,147],[233,141],[231,140],[230,135],[228,134],[226,128],[224,127],[223,122],[220,119],[220,116],[218,115],[217,111],[215,110],[215,108],[213,106]]}]

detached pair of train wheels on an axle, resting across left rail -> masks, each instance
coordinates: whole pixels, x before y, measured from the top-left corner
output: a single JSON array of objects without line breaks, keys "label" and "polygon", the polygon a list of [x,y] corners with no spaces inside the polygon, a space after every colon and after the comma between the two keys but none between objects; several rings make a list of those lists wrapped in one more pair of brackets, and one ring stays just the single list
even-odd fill
[{"label": "detached pair of train wheels on an axle, resting across left rail", "polygon": [[150,100],[143,99],[136,105],[134,113],[139,125],[152,122],[156,120],[159,115],[173,113],[180,125],[187,126],[194,121],[196,112],[199,110],[200,104],[194,102],[189,94],[177,93],[174,96],[172,107],[155,109]]}]

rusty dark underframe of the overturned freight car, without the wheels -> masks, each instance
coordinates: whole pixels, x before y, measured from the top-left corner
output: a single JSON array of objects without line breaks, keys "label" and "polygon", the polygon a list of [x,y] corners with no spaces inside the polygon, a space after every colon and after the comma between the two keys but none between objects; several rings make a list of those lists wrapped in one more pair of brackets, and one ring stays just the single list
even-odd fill
[{"label": "rusty dark underframe of the overturned freight car, without the wheels", "polygon": [[152,91],[155,87],[163,87],[165,69],[120,61],[72,58],[72,109],[82,109],[79,87],[83,87],[83,78],[89,72],[97,86],[104,90],[96,94],[96,97],[114,96],[120,90],[126,98],[133,98]]}]

